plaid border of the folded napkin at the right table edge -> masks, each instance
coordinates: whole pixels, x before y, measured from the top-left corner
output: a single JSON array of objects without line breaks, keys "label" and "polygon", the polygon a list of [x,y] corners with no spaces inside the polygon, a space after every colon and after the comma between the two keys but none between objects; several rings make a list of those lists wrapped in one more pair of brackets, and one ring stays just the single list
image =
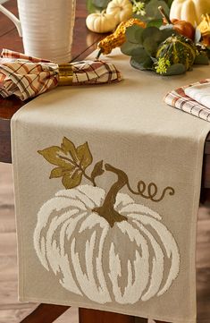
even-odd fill
[{"label": "plaid border of the folded napkin at the right table edge", "polygon": [[176,107],[177,109],[187,112],[190,115],[196,115],[198,118],[210,122],[210,109],[206,106],[201,105],[193,98],[190,98],[185,93],[186,89],[190,87],[207,83],[210,83],[210,79],[197,81],[196,83],[189,84],[178,89],[173,89],[165,96],[164,102],[169,106]]}]

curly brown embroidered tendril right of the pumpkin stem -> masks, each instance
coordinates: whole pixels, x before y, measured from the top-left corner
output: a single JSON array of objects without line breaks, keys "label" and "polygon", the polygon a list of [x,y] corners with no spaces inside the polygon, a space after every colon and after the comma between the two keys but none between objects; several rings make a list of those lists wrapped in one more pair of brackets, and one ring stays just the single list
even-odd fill
[{"label": "curly brown embroidered tendril right of the pumpkin stem", "polygon": [[168,191],[169,195],[174,195],[175,191],[171,186],[167,186],[164,188],[161,196],[159,198],[155,198],[158,192],[157,186],[155,183],[149,183],[148,185],[144,181],[139,181],[137,188],[138,191],[133,191],[130,187],[130,183],[127,183],[128,189],[132,194],[140,195],[144,199],[152,200],[154,202],[159,202],[164,199],[164,195],[166,191]]}]

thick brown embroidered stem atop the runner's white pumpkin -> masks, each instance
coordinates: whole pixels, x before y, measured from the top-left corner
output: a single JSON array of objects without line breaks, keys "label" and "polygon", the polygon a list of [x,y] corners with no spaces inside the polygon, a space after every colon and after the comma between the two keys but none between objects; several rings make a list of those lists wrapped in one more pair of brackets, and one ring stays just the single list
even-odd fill
[{"label": "thick brown embroidered stem atop the runner's white pumpkin", "polygon": [[104,217],[109,225],[113,227],[115,222],[127,221],[127,217],[124,217],[115,211],[113,206],[116,202],[118,191],[128,183],[128,176],[121,169],[115,168],[109,164],[105,164],[105,170],[116,174],[118,179],[117,182],[113,183],[113,186],[106,194],[104,204],[99,208],[94,208],[93,212],[97,212],[100,217]]}]

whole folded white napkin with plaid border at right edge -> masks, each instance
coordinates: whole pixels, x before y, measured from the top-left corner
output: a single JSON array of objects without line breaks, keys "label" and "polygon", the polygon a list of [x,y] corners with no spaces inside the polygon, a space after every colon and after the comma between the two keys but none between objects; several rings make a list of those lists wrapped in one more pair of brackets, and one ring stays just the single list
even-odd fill
[{"label": "whole folded white napkin with plaid border at right edge", "polygon": [[[201,88],[201,86],[204,86],[204,88]],[[169,106],[176,107],[190,115],[196,115],[198,118],[210,122],[210,106],[204,106],[201,104],[206,104],[207,101],[210,102],[209,97],[207,98],[206,96],[205,98],[201,94],[201,92],[205,93],[207,89],[210,91],[210,79],[197,81],[196,83],[189,84],[178,89],[173,89],[165,96],[164,102]],[[194,98],[197,98],[197,100]],[[208,105],[210,105],[209,102]]]}]

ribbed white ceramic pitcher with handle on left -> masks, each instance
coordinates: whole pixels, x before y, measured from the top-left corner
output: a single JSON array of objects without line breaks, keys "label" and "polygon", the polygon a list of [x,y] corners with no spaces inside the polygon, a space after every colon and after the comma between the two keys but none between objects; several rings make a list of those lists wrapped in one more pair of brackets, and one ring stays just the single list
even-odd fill
[{"label": "ribbed white ceramic pitcher with handle on left", "polygon": [[26,55],[58,64],[71,60],[76,0],[18,0],[20,21],[0,4],[23,40]]}]

